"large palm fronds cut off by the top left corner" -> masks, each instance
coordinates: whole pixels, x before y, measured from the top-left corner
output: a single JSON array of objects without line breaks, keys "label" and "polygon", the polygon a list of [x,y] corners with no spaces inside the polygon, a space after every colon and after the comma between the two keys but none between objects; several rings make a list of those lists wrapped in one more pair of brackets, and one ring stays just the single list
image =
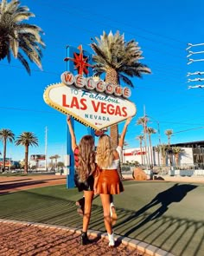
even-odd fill
[{"label": "large palm fronds cut off by the top left corner", "polygon": [[20,6],[18,0],[11,0],[10,3],[2,0],[0,3],[0,61],[7,57],[10,62],[12,53],[29,74],[29,62],[25,56],[41,69],[41,47],[45,47],[41,40],[41,28],[24,22],[32,16],[35,15],[29,12],[27,6]]}]

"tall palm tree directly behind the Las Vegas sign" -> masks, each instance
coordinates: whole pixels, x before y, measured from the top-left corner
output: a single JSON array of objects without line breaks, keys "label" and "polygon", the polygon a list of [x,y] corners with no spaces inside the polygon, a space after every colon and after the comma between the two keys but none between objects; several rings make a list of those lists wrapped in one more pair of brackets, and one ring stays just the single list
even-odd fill
[{"label": "tall palm tree directly behind the Las Vegas sign", "polygon": [[[128,78],[142,77],[143,73],[150,74],[150,69],[138,62],[142,58],[142,51],[135,40],[129,42],[124,41],[124,35],[120,35],[119,31],[107,35],[105,31],[103,35],[92,39],[91,48],[95,55],[93,56],[94,75],[100,76],[105,74],[105,82],[111,82],[114,85],[120,84],[122,80],[125,84],[133,87],[133,83]],[[128,76],[127,76],[128,75]],[[118,125],[112,125],[111,137],[113,146],[118,146]]]}]

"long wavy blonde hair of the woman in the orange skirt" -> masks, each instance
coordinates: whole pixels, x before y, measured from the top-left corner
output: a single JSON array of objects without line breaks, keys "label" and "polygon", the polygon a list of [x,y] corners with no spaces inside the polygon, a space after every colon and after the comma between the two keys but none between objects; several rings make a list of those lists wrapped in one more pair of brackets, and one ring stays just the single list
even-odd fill
[{"label": "long wavy blonde hair of the woman in the orange skirt", "polygon": [[110,167],[113,161],[112,140],[109,135],[101,135],[96,153],[97,164],[100,168]]}]

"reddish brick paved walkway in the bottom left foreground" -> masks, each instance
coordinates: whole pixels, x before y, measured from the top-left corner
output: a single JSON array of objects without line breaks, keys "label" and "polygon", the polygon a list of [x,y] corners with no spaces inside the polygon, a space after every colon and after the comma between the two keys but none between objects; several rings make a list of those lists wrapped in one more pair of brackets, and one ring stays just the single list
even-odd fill
[{"label": "reddish brick paved walkway in the bottom left foreground", "polygon": [[[92,244],[80,245],[80,230],[62,226],[0,220],[1,256],[149,256],[170,255],[158,249],[153,253],[149,245],[116,236],[116,246],[110,248],[105,233],[89,233]],[[146,253],[144,253],[144,247]],[[148,251],[150,253],[148,253]]]}]

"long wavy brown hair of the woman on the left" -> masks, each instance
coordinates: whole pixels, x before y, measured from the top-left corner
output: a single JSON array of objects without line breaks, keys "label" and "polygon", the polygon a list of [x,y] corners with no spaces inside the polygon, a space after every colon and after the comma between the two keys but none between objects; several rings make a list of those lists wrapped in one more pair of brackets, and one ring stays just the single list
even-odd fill
[{"label": "long wavy brown hair of the woman on the left", "polygon": [[84,182],[95,170],[94,140],[91,135],[81,138],[79,144],[79,165],[76,168],[80,181]]}]

